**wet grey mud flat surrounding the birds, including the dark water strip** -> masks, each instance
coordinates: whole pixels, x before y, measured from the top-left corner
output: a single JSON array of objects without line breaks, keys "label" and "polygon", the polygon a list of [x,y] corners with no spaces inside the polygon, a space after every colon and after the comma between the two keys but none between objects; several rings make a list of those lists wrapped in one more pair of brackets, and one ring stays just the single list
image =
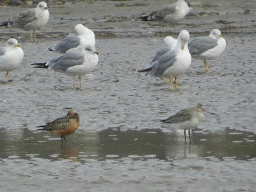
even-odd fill
[{"label": "wet grey mud flat surrounding the birds, including the dark water strip", "polygon": [[[158,8],[157,1],[52,5],[51,23],[36,43],[24,31],[1,29],[1,45],[18,35],[25,52],[10,83],[3,83],[1,73],[1,191],[254,191],[255,7],[253,1],[225,2],[231,6],[216,1],[206,9],[226,10],[223,17],[192,15],[178,26],[192,38],[220,28],[227,48],[210,61],[210,74],[193,60],[174,92],[163,79],[137,72],[163,45],[164,35],[178,35],[173,26],[132,19]],[[25,8],[1,7],[0,15],[19,9]],[[85,11],[88,18],[81,19]],[[199,14],[200,6],[193,12]],[[83,90],[72,89],[72,77],[29,65],[56,56],[45,49],[72,32],[75,22],[95,31],[101,53],[97,68],[83,77]],[[182,130],[159,122],[197,102],[220,116],[205,114],[191,143],[184,142]],[[79,113],[81,125],[61,148],[60,138],[35,127],[69,108]]]}]

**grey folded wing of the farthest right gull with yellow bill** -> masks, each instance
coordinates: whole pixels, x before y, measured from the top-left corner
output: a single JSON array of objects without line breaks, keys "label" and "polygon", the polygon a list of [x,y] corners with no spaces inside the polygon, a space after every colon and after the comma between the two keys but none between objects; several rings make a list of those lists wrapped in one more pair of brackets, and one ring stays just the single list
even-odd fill
[{"label": "grey folded wing of the farthest right gull with yellow bill", "polygon": [[189,52],[192,55],[199,55],[218,45],[218,40],[211,36],[201,36],[194,38],[188,43]]}]

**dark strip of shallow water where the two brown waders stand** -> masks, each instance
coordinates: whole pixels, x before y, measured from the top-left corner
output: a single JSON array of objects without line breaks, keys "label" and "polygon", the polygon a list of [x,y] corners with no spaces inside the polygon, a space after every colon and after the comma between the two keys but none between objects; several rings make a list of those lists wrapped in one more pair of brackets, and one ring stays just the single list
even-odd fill
[{"label": "dark strip of shallow water where the two brown waders stand", "polygon": [[39,157],[71,159],[180,159],[205,158],[252,159],[256,157],[255,134],[231,129],[218,132],[195,130],[192,142],[185,143],[182,130],[163,132],[161,129],[106,129],[100,132],[79,131],[68,137],[72,143],[61,148],[60,138],[29,129],[0,129],[0,158],[30,159]]}]

